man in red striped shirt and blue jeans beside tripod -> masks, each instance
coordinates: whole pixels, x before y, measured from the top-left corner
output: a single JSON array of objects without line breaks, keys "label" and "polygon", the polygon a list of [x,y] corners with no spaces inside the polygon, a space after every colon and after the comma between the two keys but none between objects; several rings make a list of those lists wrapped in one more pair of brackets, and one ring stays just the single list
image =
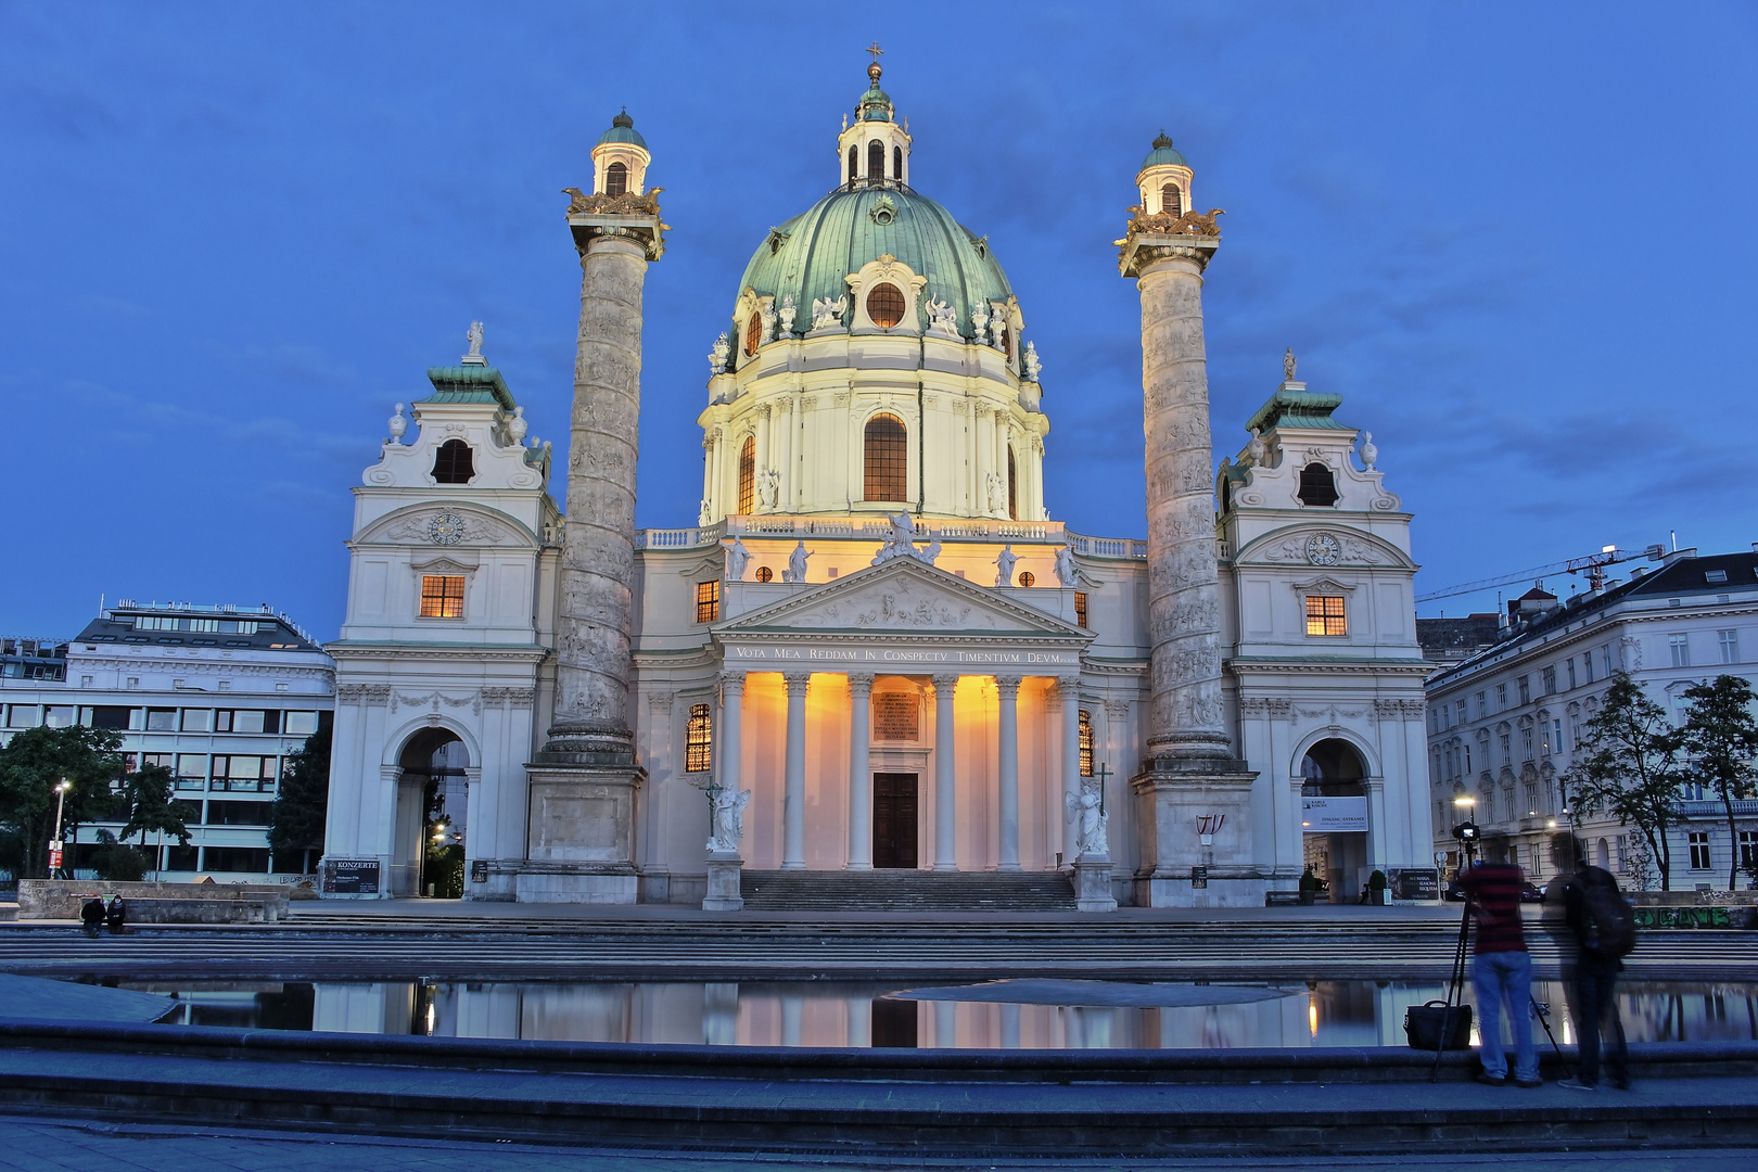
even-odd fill
[{"label": "man in red striped shirt and blue jeans beside tripod", "polygon": [[1533,988],[1533,963],[1526,952],[1521,926],[1521,884],[1526,873],[1512,863],[1478,863],[1459,886],[1477,921],[1471,956],[1471,988],[1477,989],[1478,1058],[1484,1070],[1478,1082],[1503,1086],[1508,1081],[1508,1056],[1501,1044],[1501,1010],[1514,1026],[1514,1086],[1544,1086],[1538,1077],[1538,1047],[1533,1045],[1533,1019],[1528,1012]]}]

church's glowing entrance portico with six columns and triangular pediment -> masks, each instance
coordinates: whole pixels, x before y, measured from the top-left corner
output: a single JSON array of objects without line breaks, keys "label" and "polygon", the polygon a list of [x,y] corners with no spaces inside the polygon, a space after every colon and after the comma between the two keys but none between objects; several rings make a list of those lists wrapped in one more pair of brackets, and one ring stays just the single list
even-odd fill
[{"label": "church's glowing entrance portico with six columns and triangular pediment", "polygon": [[[1071,857],[1088,631],[907,559],[777,592],[714,631],[716,773],[752,791],[752,866],[1016,872]],[[875,859],[875,829],[912,861]]]}]

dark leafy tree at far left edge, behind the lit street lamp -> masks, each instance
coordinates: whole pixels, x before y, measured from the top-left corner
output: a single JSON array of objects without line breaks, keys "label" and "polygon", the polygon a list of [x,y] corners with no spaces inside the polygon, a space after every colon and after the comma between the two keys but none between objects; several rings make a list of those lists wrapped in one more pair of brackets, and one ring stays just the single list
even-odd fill
[{"label": "dark leafy tree at far left edge, behind the lit street lamp", "polygon": [[70,726],[25,729],[0,749],[0,828],[9,831],[12,857],[0,859],[19,879],[49,873],[54,833],[54,785],[72,782],[62,810],[62,836],[111,814],[111,780],[121,777],[121,736],[109,729]]}]

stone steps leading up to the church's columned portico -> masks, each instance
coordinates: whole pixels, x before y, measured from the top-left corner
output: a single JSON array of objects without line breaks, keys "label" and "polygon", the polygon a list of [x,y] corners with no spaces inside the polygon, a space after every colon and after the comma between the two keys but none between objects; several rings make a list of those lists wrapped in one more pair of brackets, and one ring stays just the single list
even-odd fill
[{"label": "stone steps leading up to the church's columned portico", "polygon": [[740,875],[745,910],[1072,912],[1060,872],[754,872]]}]

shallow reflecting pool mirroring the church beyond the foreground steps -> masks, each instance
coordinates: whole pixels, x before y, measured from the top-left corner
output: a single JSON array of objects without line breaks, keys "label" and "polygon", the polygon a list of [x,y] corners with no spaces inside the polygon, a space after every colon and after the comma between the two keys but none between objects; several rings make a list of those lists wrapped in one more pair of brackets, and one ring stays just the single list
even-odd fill
[{"label": "shallow reflecting pool mirroring the church beyond the foreground steps", "polygon": [[[1239,1049],[1405,1045],[1405,1009],[1440,984],[872,982],[120,982],[199,1026],[687,1045]],[[1573,1042],[1559,982],[1535,982]],[[1758,1038],[1758,984],[1631,980],[1631,1042]],[[1535,1030],[1540,1044],[1544,1031]],[[1475,1038],[1473,1038],[1475,1040]]]}]

